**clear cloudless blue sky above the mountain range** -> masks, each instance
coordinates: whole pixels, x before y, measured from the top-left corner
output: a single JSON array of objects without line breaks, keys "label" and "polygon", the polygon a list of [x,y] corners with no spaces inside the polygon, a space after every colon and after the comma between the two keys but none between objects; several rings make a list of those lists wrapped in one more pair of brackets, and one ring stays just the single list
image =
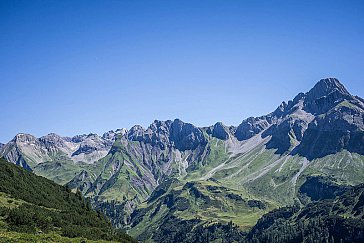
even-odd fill
[{"label": "clear cloudless blue sky above the mountain range", "polygon": [[0,1],[0,142],[273,111],[337,77],[364,96],[364,1]]}]

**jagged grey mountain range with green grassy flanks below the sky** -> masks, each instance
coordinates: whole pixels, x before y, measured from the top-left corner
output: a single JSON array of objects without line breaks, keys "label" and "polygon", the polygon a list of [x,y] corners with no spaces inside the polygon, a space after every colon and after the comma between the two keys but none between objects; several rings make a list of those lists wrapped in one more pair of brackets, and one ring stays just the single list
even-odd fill
[{"label": "jagged grey mountain range with green grassy flanks below the sky", "polygon": [[[319,185],[317,178],[325,178],[343,185],[342,193],[327,200],[343,197],[364,182],[364,100],[351,95],[337,79],[326,78],[273,112],[249,117],[238,126],[218,122],[196,127],[175,119],[103,136],[18,134],[0,147],[0,154],[35,174],[79,189],[114,226],[139,240],[173,242],[189,232],[197,242],[219,234],[232,241],[273,241],[281,239],[278,229],[295,235],[306,232],[306,223],[323,222],[324,216],[315,218],[319,222],[298,216],[310,203],[320,203],[304,193],[308,182]],[[325,185],[331,188],[329,184]],[[263,234],[262,216],[278,208],[293,210],[282,211],[290,215],[284,218],[285,225],[300,225],[264,226]],[[339,215],[332,212],[325,217]],[[352,215],[353,220],[362,220]],[[347,223],[344,216],[340,220]],[[322,223],[328,237],[346,241],[342,235],[348,234],[347,239],[354,239],[350,238],[354,233],[345,230],[332,233],[329,222]],[[171,225],[176,232],[168,238],[163,229]],[[207,238],[193,238],[204,234]],[[282,240],[302,240],[297,237]]]}]

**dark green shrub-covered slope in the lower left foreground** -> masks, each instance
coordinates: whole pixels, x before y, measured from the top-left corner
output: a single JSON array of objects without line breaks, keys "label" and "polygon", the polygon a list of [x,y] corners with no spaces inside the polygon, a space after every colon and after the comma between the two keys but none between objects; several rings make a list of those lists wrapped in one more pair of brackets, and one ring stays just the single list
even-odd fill
[{"label": "dark green shrub-covered slope in the lower left foreground", "polygon": [[[95,212],[80,192],[0,159],[1,232],[56,233],[63,237],[134,242],[100,212]],[[1,234],[8,235],[6,233]],[[0,239],[1,239],[0,238]],[[11,240],[11,239],[9,239]]]}]

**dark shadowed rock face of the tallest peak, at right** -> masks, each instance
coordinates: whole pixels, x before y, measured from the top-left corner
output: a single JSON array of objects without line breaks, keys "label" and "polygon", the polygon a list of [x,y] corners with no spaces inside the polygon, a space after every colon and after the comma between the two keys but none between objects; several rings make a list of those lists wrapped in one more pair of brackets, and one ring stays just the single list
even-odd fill
[{"label": "dark shadowed rock face of the tallest peak, at right", "polygon": [[364,154],[364,103],[334,78],[320,80],[305,96],[304,110],[315,115],[296,152],[308,159],[343,149]]}]

